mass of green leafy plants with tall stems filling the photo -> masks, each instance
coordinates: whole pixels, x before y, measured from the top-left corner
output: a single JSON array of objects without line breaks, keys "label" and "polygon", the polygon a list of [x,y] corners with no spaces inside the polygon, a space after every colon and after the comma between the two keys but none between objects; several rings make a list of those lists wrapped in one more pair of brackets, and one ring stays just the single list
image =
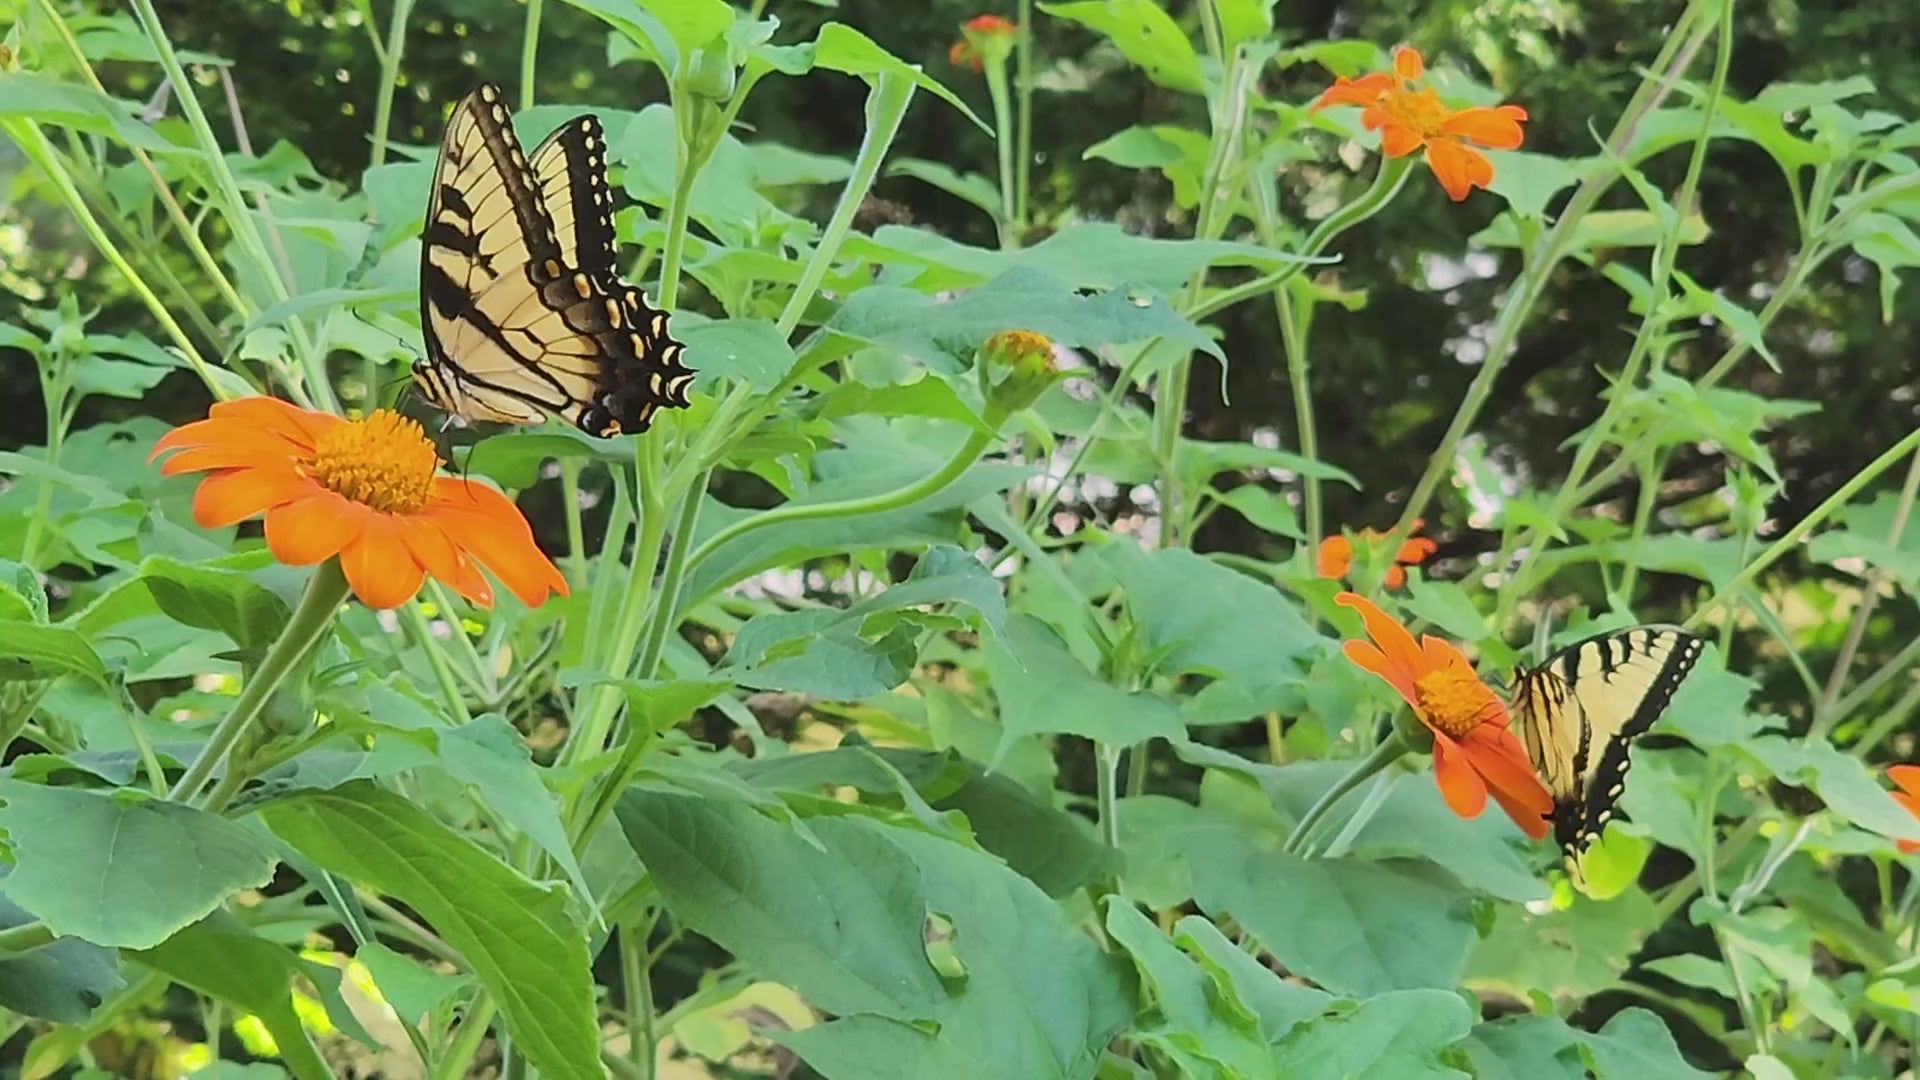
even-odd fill
[{"label": "mass of green leafy plants with tall stems filling the photo", "polygon": [[[0,1017],[23,1074],[111,1070],[109,1032],[177,1065],[238,1057],[234,1032],[296,1076],[355,1043],[430,1076],[772,1072],[770,1043],[835,1078],[1910,1067],[1920,890],[1897,842],[1920,822],[1876,773],[1914,753],[1920,646],[1868,663],[1862,642],[1912,626],[1920,432],[1778,525],[1770,440],[1818,404],[1728,384],[1776,365],[1768,334],[1822,267],[1876,267],[1891,311],[1920,263],[1914,125],[1870,85],[1740,100],[1732,6],[1697,0],[1596,146],[1548,156],[1452,65],[1283,46],[1254,0],[1021,0],[954,54],[991,119],[845,23],[793,42],[760,2],[570,4],[664,79],[666,102],[601,115],[637,204],[628,277],[674,309],[695,404],[641,438],[463,446],[470,484],[528,507],[557,488],[534,517],[566,596],[476,607],[426,580],[390,613],[342,605],[338,563],[194,525],[192,484],[148,463],[169,425],[77,404],[177,369],[217,400],[399,402],[430,175],[390,138],[415,6],[355,8],[384,77],[355,184],[288,144],[232,152],[190,73],[211,58],[150,2],[23,10],[0,65],[21,184],[159,338],[102,334],[65,292],[0,327],[48,432],[0,454]],[[522,138],[578,111],[532,102],[543,17],[526,6]],[[1087,152],[1164,183],[1185,236],[1033,188],[1037,25],[1192,106]],[[165,79],[180,119],[109,92],[117,63]],[[1342,88],[1273,92],[1302,69]],[[851,158],[741,123],[749,98],[845,77],[866,85]],[[1421,127],[1427,106],[1457,131]],[[993,177],[899,160],[910,111],[995,135]],[[1505,150],[1482,171],[1461,131]],[[1801,234],[1757,309],[1686,261],[1732,146],[1780,165]],[[1329,484],[1371,477],[1321,459],[1313,400],[1342,357],[1315,332],[1373,317],[1340,267],[1428,171],[1448,211],[1503,208],[1475,240],[1515,277],[1461,350],[1478,367],[1450,427],[1409,448],[1400,521],[1371,532],[1327,515]],[[887,175],[1000,244],[856,229]],[[1611,282],[1636,321],[1549,480],[1503,465],[1486,409],[1559,275]],[[1250,309],[1283,344],[1286,436],[1198,438],[1190,392]],[[1724,484],[1663,509],[1682,454]],[[1596,513],[1622,479],[1632,513]],[[1204,550],[1235,519],[1261,546]],[[1494,544],[1409,575],[1421,523]],[[1354,592],[1486,676],[1526,634],[1716,638],[1661,724],[1688,746],[1636,751],[1619,832],[1657,851],[1638,880],[1580,896],[1505,817],[1446,809],[1384,723],[1398,700],[1342,655],[1336,536]],[[1682,603],[1649,575],[1688,582]],[[397,1024],[363,1028],[346,999],[367,994]],[[154,1017],[205,1045],[142,1034]]]}]

